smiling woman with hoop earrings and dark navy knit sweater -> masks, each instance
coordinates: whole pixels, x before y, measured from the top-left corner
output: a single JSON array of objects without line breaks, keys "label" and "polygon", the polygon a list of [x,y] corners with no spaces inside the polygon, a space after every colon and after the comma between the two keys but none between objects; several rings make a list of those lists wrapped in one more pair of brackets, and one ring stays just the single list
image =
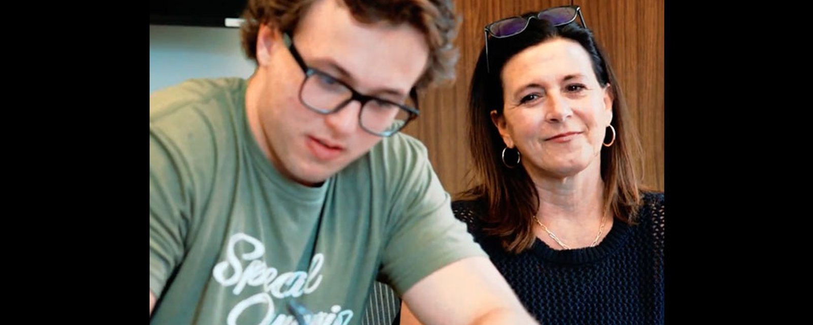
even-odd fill
[{"label": "smiling woman with hoop earrings and dark navy knit sweater", "polygon": [[541,323],[663,323],[663,193],[639,184],[620,85],[584,25],[564,6],[486,26],[479,184],[453,210]]}]

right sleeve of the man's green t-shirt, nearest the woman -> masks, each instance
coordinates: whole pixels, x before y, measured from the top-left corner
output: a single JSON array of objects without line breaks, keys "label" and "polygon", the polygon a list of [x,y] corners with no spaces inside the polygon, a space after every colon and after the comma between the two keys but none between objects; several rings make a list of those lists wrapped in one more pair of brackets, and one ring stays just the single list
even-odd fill
[{"label": "right sleeve of the man's green t-shirt, nearest the woman", "polygon": [[393,218],[381,260],[383,280],[403,294],[434,271],[463,258],[487,256],[454,218],[449,193],[433,171],[423,144],[406,141],[404,175],[393,197],[400,206]]}]

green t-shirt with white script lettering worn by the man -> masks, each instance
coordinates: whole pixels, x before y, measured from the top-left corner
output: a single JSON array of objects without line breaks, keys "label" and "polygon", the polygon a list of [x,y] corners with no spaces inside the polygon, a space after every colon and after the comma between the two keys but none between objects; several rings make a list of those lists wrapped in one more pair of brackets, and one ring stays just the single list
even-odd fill
[{"label": "green t-shirt with white script lettering worn by the man", "polygon": [[[150,95],[150,323],[360,323],[373,280],[402,294],[486,256],[424,145],[398,133],[318,188],[282,176],[246,120],[247,81]],[[311,319],[312,317],[312,319]]]}]

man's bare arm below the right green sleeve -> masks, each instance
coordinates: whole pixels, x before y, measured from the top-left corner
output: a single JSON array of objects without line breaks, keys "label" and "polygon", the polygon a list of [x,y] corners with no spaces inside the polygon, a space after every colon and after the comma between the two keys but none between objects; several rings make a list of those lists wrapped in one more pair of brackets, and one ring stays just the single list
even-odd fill
[{"label": "man's bare arm below the right green sleeve", "polygon": [[[403,295],[402,324],[538,324],[484,257],[434,271]],[[413,316],[414,313],[414,316]]]}]

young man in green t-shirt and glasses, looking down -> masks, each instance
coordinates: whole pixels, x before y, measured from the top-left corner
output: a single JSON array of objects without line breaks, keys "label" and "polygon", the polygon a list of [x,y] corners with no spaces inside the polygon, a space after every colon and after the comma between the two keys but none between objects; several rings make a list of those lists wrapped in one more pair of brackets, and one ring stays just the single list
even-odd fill
[{"label": "young man in green t-shirt and glasses, looking down", "polygon": [[533,323],[419,141],[454,74],[449,0],[250,0],[250,80],[150,96],[150,322],[360,323],[377,279],[424,323]]}]

